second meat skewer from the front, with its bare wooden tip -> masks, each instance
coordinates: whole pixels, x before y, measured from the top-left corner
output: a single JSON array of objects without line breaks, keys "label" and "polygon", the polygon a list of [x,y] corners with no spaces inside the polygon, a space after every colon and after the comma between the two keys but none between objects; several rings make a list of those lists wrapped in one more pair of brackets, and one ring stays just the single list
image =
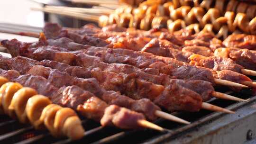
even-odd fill
[{"label": "second meat skewer from the front, with its bare wooden tip", "polygon": [[[151,121],[155,120],[157,117],[164,117],[172,121],[189,124],[189,122],[174,117],[170,114],[162,112],[160,108],[155,106],[148,99],[133,100],[126,96],[120,95],[119,93],[113,91],[106,91],[101,88],[101,86],[95,81],[95,79],[80,79],[68,75],[66,72],[59,72],[58,70],[51,70],[43,66],[39,66],[42,63],[39,63],[35,60],[28,59],[26,57],[16,57],[16,58],[0,58],[1,64],[5,69],[18,70],[21,74],[33,74],[43,76],[48,79],[54,86],[69,86],[77,85],[84,90],[88,90],[91,93],[97,95],[101,99],[105,100],[109,104],[115,104],[121,107],[129,108],[137,112],[145,114],[145,116]],[[17,63],[22,63],[22,66]],[[125,86],[125,85],[124,85]],[[116,99],[116,100],[115,100]],[[157,117],[155,117],[155,116]]]}]

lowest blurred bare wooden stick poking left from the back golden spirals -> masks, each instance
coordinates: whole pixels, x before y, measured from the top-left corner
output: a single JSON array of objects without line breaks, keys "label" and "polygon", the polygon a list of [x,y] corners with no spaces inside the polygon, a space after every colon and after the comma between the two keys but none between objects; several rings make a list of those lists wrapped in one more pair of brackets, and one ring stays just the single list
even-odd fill
[{"label": "lowest blurred bare wooden stick poking left from the back golden spirals", "polygon": [[78,19],[82,19],[82,20],[90,20],[93,22],[98,22],[98,19],[99,19],[98,16],[82,14],[82,13],[78,13],[78,12],[70,12],[70,11],[63,11],[63,10],[49,9],[49,8],[31,8],[31,9],[44,11],[47,13],[59,14],[59,15],[63,15],[63,16],[73,17],[73,18],[78,18]]}]

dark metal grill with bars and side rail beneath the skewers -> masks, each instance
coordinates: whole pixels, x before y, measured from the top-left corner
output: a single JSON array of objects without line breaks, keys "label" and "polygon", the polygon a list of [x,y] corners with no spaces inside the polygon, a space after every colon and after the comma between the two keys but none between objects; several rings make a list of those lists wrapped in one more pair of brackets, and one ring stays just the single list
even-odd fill
[{"label": "dark metal grill with bars and side rail beneath the skewers", "polygon": [[[12,28],[10,29],[9,27]],[[0,24],[0,29],[20,32],[27,26]],[[34,31],[40,31],[31,27]],[[1,37],[4,39],[4,37]],[[256,80],[256,77],[250,77]],[[154,123],[169,129],[158,132],[151,129],[122,130],[115,127],[102,127],[99,123],[82,118],[84,137],[79,141],[52,137],[47,130],[38,131],[31,125],[21,125],[7,115],[0,115],[0,144],[254,144],[256,142],[256,90],[240,92],[227,91],[220,87],[216,91],[224,92],[249,102],[234,102],[224,99],[210,99],[209,103],[236,111],[236,114],[224,114],[201,110],[195,113],[174,112],[173,115],[192,122],[190,125],[178,124],[164,119]]]}]

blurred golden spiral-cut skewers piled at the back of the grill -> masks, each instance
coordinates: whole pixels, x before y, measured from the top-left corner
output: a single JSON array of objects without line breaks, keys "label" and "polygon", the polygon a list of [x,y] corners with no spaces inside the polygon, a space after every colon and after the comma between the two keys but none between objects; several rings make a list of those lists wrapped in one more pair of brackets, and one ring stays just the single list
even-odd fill
[{"label": "blurred golden spiral-cut skewers piled at the back of the grill", "polygon": [[101,27],[118,24],[142,30],[182,28],[210,32],[218,38],[230,33],[256,34],[256,4],[238,0],[144,1],[137,8],[123,6],[109,16],[101,16]]}]

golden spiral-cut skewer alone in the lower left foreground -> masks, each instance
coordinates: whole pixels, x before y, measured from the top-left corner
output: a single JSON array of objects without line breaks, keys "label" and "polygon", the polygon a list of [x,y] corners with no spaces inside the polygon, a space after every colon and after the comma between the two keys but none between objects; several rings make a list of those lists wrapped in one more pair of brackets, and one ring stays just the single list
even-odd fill
[{"label": "golden spiral-cut skewer alone in the lower left foreground", "polygon": [[[18,117],[21,123],[29,120],[36,129],[47,127],[56,137],[82,138],[84,129],[81,120],[71,108],[52,104],[47,97],[38,95],[36,90],[24,88],[17,82],[8,82],[4,77],[0,77],[0,94],[0,110],[10,117]],[[55,108],[51,114],[46,113],[49,107]]]}]

